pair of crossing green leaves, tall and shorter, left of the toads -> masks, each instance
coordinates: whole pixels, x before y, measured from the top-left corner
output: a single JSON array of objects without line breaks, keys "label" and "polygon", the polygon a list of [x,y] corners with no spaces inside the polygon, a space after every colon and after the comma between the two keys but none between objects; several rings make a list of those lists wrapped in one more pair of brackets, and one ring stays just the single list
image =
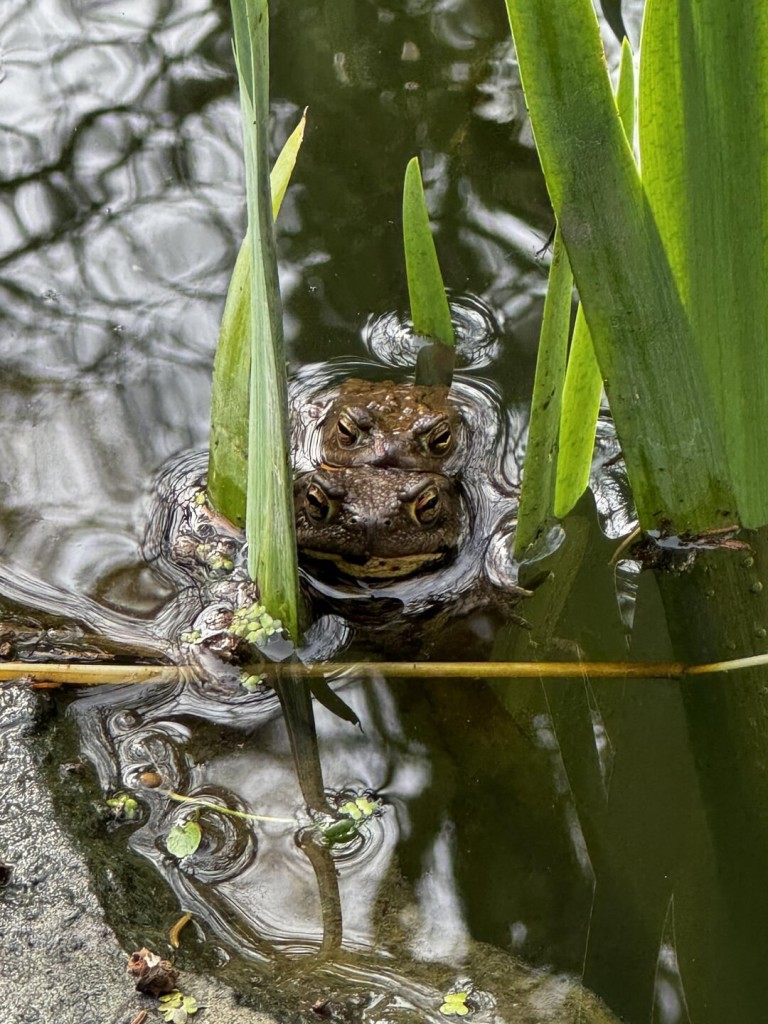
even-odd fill
[{"label": "pair of crossing green leaves, tall and shorter, left of the toads", "polygon": [[[231,10],[246,162],[248,233],[227,297],[222,323],[224,344],[215,370],[215,425],[209,466],[211,498],[228,518],[241,523],[245,518],[248,571],[258,581],[266,606],[286,624],[288,633],[296,640],[298,566],[283,307],[273,220],[274,205],[280,205],[301,144],[301,132],[293,136],[291,152],[282,165],[285,181],[270,185],[268,4],[266,0],[231,0]],[[244,461],[247,461],[245,477]]]}]

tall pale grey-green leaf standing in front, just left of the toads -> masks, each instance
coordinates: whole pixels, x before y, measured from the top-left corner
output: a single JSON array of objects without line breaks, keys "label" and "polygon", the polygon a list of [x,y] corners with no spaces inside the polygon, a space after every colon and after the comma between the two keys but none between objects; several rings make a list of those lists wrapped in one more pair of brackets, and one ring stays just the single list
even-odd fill
[{"label": "tall pale grey-green leaf standing in front, just left of the toads", "polygon": [[[258,581],[267,610],[285,623],[296,640],[298,568],[293,474],[288,451],[288,382],[267,163],[269,17],[266,0],[253,0],[247,5],[245,0],[232,0],[233,12],[236,8],[234,49],[241,78],[251,236],[248,571]],[[253,75],[250,83],[243,81],[249,68]]]}]

